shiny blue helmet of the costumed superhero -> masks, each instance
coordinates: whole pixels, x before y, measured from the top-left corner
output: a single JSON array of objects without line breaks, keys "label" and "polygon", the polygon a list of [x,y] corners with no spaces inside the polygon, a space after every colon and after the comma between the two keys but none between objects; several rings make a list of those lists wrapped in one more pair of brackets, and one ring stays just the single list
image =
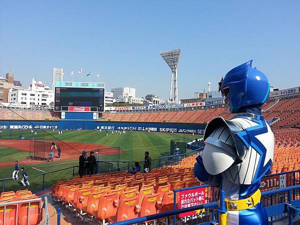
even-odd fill
[{"label": "shiny blue helmet of the costumed superhero", "polygon": [[219,91],[230,104],[230,112],[237,113],[242,106],[262,104],[270,91],[265,74],[252,68],[252,60],[231,69],[219,82]]}]

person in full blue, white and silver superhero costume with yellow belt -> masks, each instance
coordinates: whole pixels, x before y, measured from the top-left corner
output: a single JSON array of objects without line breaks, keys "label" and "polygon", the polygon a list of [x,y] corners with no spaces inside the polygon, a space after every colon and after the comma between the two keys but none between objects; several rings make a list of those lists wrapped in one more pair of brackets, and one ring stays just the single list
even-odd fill
[{"label": "person in full blue, white and silver superhero costume with yellow belt", "polygon": [[196,160],[198,180],[225,191],[227,224],[268,224],[260,203],[261,177],[271,169],[274,135],[261,114],[269,93],[266,76],[251,61],[231,69],[219,90],[237,113],[230,120],[212,119],[205,128],[205,147]]}]

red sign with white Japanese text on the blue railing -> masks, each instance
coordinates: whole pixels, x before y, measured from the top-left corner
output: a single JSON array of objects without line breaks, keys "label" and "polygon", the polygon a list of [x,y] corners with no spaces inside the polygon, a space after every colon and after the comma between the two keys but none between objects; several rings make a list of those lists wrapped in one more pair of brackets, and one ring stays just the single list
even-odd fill
[{"label": "red sign with white Japanese text on the blue railing", "polygon": [[[205,203],[205,187],[200,187],[191,190],[182,190],[179,194],[179,208],[187,208]],[[200,210],[188,211],[180,213],[179,217],[199,214],[204,212],[204,208]]]}]

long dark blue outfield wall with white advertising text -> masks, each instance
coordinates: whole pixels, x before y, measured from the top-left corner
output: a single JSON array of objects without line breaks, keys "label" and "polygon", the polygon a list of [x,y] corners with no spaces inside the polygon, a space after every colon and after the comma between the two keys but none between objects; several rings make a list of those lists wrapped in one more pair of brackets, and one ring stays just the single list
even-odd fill
[{"label": "long dark blue outfield wall with white advertising text", "polygon": [[102,129],[203,134],[203,123],[114,122],[95,120],[0,121],[0,129]]}]

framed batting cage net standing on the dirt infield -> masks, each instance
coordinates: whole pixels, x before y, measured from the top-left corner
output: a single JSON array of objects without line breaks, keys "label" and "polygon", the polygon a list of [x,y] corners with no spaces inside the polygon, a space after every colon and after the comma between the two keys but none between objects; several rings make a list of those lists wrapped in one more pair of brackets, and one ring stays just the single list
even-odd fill
[{"label": "framed batting cage net standing on the dirt infield", "polygon": [[30,140],[29,158],[39,160],[53,160],[51,142]]}]

